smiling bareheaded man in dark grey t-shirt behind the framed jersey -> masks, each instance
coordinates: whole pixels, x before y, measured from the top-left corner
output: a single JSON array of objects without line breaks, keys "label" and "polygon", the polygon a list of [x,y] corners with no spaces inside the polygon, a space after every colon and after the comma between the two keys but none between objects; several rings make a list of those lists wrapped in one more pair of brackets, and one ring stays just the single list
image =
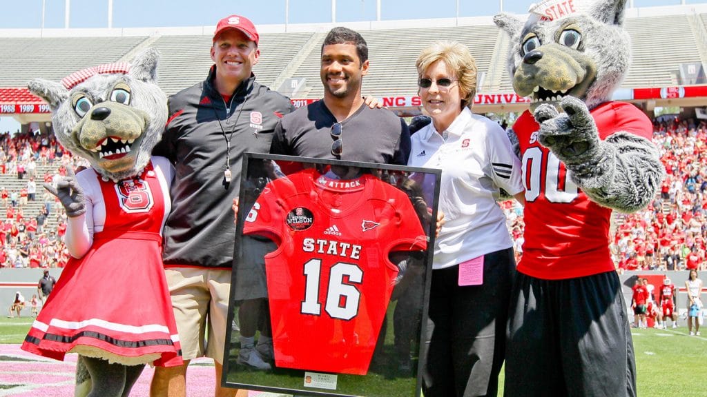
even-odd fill
[{"label": "smiling bareheaded man in dark grey t-shirt behind the framed jersey", "polygon": [[354,30],[332,29],[322,45],[324,99],[281,119],[270,153],[407,165],[407,124],[388,109],[364,104],[367,73],[366,40]]}]

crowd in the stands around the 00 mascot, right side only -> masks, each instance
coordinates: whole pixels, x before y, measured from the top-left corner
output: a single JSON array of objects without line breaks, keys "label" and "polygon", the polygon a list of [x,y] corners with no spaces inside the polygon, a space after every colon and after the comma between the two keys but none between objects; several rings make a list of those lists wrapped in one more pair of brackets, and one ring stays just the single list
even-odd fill
[{"label": "crowd in the stands around the 00 mascot, right side only", "polygon": [[[617,271],[707,270],[707,122],[654,122],[653,142],[667,176],[643,211],[614,213],[611,249]],[[522,208],[503,203],[516,261],[522,256]]]}]

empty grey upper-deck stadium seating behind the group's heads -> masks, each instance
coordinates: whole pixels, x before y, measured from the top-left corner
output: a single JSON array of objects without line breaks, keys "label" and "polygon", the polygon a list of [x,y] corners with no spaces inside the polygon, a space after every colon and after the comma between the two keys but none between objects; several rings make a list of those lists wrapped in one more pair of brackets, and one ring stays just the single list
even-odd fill
[{"label": "empty grey upper-deck stadium seating behind the group's heads", "polygon": [[[690,23],[692,20],[701,23]],[[258,80],[277,89],[286,78],[306,78],[309,89],[298,97],[320,98],[323,89],[319,49],[324,34],[314,30],[316,27],[312,25],[312,32],[264,32],[260,40],[261,58],[254,68]],[[700,62],[700,54],[707,54],[707,42],[699,40],[707,35],[707,14],[626,18],[626,30],[631,35],[633,63],[624,88],[677,85],[679,64]],[[457,40],[469,46],[481,75],[479,92],[513,91],[506,71],[508,37],[493,25],[491,18],[481,23],[477,20],[473,25],[359,31],[370,50],[370,73],[363,85],[368,95],[415,95],[414,61],[420,49],[433,40]],[[209,34],[6,37],[0,40],[0,70],[4,72],[0,74],[0,88],[21,88],[34,77],[58,81],[84,67],[125,61],[135,49],[148,45],[163,54],[158,79],[168,94],[203,80],[212,63]]]}]

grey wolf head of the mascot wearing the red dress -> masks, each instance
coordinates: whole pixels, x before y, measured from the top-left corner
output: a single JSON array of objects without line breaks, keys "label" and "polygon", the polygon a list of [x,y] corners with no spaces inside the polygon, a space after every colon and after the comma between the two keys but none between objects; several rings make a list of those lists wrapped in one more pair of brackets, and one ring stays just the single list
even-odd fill
[{"label": "grey wolf head of the mascot wearing the red dress", "polygon": [[131,63],[95,66],[61,83],[35,79],[30,91],[52,109],[54,134],[114,181],[139,174],[167,122],[167,97],[156,83],[156,49]]}]

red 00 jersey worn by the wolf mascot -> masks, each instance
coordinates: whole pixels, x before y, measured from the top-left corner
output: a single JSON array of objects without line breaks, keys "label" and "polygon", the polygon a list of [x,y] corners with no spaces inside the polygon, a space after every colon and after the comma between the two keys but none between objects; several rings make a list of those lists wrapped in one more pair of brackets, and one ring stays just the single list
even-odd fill
[{"label": "red 00 jersey worn by the wolf mascot", "polygon": [[[635,106],[606,102],[591,111],[602,140],[617,131],[653,135],[648,117]],[[513,125],[520,143],[525,185],[525,243],[518,271],[561,280],[614,270],[609,253],[612,210],[591,201],[565,165],[538,141],[538,124],[524,112]]]}]

